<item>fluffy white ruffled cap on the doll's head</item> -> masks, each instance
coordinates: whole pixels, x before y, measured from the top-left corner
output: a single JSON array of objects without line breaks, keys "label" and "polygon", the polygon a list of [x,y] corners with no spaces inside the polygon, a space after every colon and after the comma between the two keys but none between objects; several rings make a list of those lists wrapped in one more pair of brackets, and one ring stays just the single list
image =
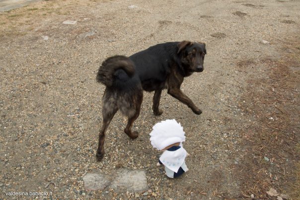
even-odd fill
[{"label": "fluffy white ruffled cap on the doll's head", "polygon": [[154,148],[162,150],[165,147],[185,141],[184,131],[176,120],[165,120],[155,124],[150,133],[150,141]]}]

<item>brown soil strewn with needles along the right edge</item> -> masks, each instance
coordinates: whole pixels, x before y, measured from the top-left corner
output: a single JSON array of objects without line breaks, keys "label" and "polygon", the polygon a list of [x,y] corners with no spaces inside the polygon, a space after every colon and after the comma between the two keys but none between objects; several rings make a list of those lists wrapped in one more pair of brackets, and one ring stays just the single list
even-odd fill
[{"label": "brown soil strewn with needles along the right edge", "polygon": [[274,188],[279,194],[295,200],[300,198],[300,96],[297,89],[300,51],[297,46],[299,40],[290,46],[295,51],[279,60],[265,59],[259,63],[247,60],[238,64],[239,67],[262,66],[263,71],[268,71],[264,78],[248,80],[247,93],[239,105],[243,113],[253,118],[252,124],[241,129],[245,155],[235,169],[242,181],[244,197],[254,194],[260,199],[270,199],[264,191]]}]

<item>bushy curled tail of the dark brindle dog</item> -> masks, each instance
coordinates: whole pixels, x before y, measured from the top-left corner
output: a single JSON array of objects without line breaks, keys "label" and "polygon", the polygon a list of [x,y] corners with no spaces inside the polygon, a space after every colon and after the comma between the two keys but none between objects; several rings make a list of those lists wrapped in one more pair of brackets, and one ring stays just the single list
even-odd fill
[{"label": "bushy curled tail of the dark brindle dog", "polygon": [[96,80],[111,87],[115,79],[115,71],[118,69],[123,69],[129,77],[135,73],[134,63],[128,57],[113,56],[106,59],[99,67]]}]

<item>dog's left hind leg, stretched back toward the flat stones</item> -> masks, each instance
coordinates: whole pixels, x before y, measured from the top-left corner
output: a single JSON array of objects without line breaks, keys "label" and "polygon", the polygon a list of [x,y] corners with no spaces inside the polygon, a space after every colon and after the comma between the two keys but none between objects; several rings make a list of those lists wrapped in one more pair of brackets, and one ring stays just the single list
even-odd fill
[{"label": "dog's left hind leg, stretched back toward the flat stones", "polygon": [[105,94],[104,94],[103,108],[102,108],[103,125],[99,131],[98,149],[96,154],[97,161],[102,160],[104,156],[105,132],[117,111],[118,111],[118,106],[110,102],[108,98],[105,98]]}]

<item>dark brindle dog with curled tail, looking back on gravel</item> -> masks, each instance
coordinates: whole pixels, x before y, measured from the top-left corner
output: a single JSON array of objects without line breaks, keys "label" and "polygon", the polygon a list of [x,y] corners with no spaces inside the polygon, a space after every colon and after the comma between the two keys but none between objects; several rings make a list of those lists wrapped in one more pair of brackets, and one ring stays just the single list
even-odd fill
[{"label": "dark brindle dog with curled tail, looking back on gravel", "polygon": [[97,73],[97,81],[106,86],[102,101],[103,126],[99,133],[97,160],[103,158],[105,132],[118,110],[128,117],[124,132],[132,139],[139,136],[131,128],[140,114],[143,90],[154,91],[154,115],[162,114],[158,107],[161,91],[165,88],[168,89],[168,94],[200,115],[202,111],[183,94],[180,85],[184,77],[203,71],[205,54],[204,43],[182,41],[158,44],[129,58],[113,56],[106,59]]}]

